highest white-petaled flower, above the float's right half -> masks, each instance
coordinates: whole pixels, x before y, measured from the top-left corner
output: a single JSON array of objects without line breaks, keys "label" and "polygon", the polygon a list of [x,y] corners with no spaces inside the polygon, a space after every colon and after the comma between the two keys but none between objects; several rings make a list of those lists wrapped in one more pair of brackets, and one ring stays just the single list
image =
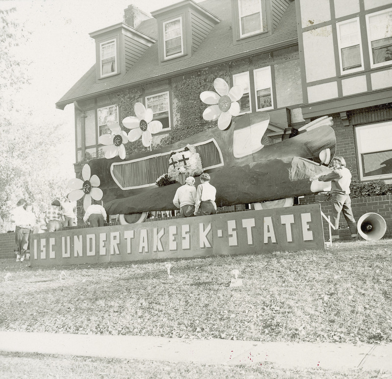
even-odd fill
[{"label": "highest white-petaled flower, above the float's right half", "polygon": [[203,119],[211,121],[218,118],[218,127],[224,130],[230,125],[231,117],[240,114],[238,100],[242,98],[244,90],[239,85],[229,90],[229,85],[220,77],[214,80],[214,88],[218,93],[204,91],[200,94],[201,101],[212,104],[204,110]]}]

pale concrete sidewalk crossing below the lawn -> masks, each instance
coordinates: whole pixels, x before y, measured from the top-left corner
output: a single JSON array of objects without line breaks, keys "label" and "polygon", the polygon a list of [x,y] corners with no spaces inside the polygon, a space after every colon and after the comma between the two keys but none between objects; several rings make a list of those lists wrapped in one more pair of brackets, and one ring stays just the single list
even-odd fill
[{"label": "pale concrete sidewalk crossing below the lawn", "polygon": [[0,331],[0,351],[392,372],[392,344],[349,345]]}]

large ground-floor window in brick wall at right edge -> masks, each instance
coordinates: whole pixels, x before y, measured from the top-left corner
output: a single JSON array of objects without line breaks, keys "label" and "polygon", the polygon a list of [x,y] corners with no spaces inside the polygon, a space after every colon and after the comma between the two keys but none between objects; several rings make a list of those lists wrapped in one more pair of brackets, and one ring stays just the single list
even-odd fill
[{"label": "large ground-floor window in brick wall at right edge", "polygon": [[392,177],[392,122],[357,126],[355,135],[361,179]]}]

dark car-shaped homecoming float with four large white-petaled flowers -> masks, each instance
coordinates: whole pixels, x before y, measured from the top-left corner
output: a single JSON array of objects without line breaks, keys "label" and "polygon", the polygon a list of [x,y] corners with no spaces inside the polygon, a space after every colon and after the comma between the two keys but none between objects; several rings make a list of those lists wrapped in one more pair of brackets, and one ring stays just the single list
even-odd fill
[{"label": "dark car-shaped homecoming float with four large white-petaled flowers", "polygon": [[[331,118],[322,117],[299,129],[293,138],[267,145],[267,112],[239,116],[240,86],[229,86],[223,79],[214,81],[216,92],[204,91],[200,99],[208,105],[203,118],[218,120],[217,125],[152,150],[152,134],[162,125],[152,121],[152,110],[135,104],[136,117],[126,117],[123,126],[108,122],[111,134],[99,137],[110,145],[105,158],[93,159],[82,170],[83,179],[72,179],[71,200],[84,196],[86,208],[91,199],[102,200],[109,215],[123,215],[123,223],[143,222],[149,211],[176,209],[172,199],[186,176],[202,172],[211,175],[217,189],[217,206],[278,202],[326,190],[325,183],[310,177],[330,172],[326,167],[336,151]],[[142,138],[150,151],[125,156],[124,144]],[[328,184],[327,184],[328,186]]]}]

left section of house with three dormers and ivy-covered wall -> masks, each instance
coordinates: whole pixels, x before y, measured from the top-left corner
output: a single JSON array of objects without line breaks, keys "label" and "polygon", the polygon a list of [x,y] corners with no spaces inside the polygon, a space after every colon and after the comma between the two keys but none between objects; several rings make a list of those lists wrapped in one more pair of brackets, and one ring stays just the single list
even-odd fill
[{"label": "left section of house with three dormers and ivy-covered wall", "polygon": [[[241,114],[269,112],[272,142],[304,123],[293,0],[183,0],[151,16],[129,5],[124,22],[90,33],[96,64],[56,103],[74,104],[76,162],[102,155],[98,137],[107,120],[132,115],[136,101],[163,124],[152,147],[168,136],[181,139],[183,124],[188,134],[200,131],[205,104],[198,95],[213,90],[216,77],[243,86]],[[201,85],[181,92],[192,80]]]}]

